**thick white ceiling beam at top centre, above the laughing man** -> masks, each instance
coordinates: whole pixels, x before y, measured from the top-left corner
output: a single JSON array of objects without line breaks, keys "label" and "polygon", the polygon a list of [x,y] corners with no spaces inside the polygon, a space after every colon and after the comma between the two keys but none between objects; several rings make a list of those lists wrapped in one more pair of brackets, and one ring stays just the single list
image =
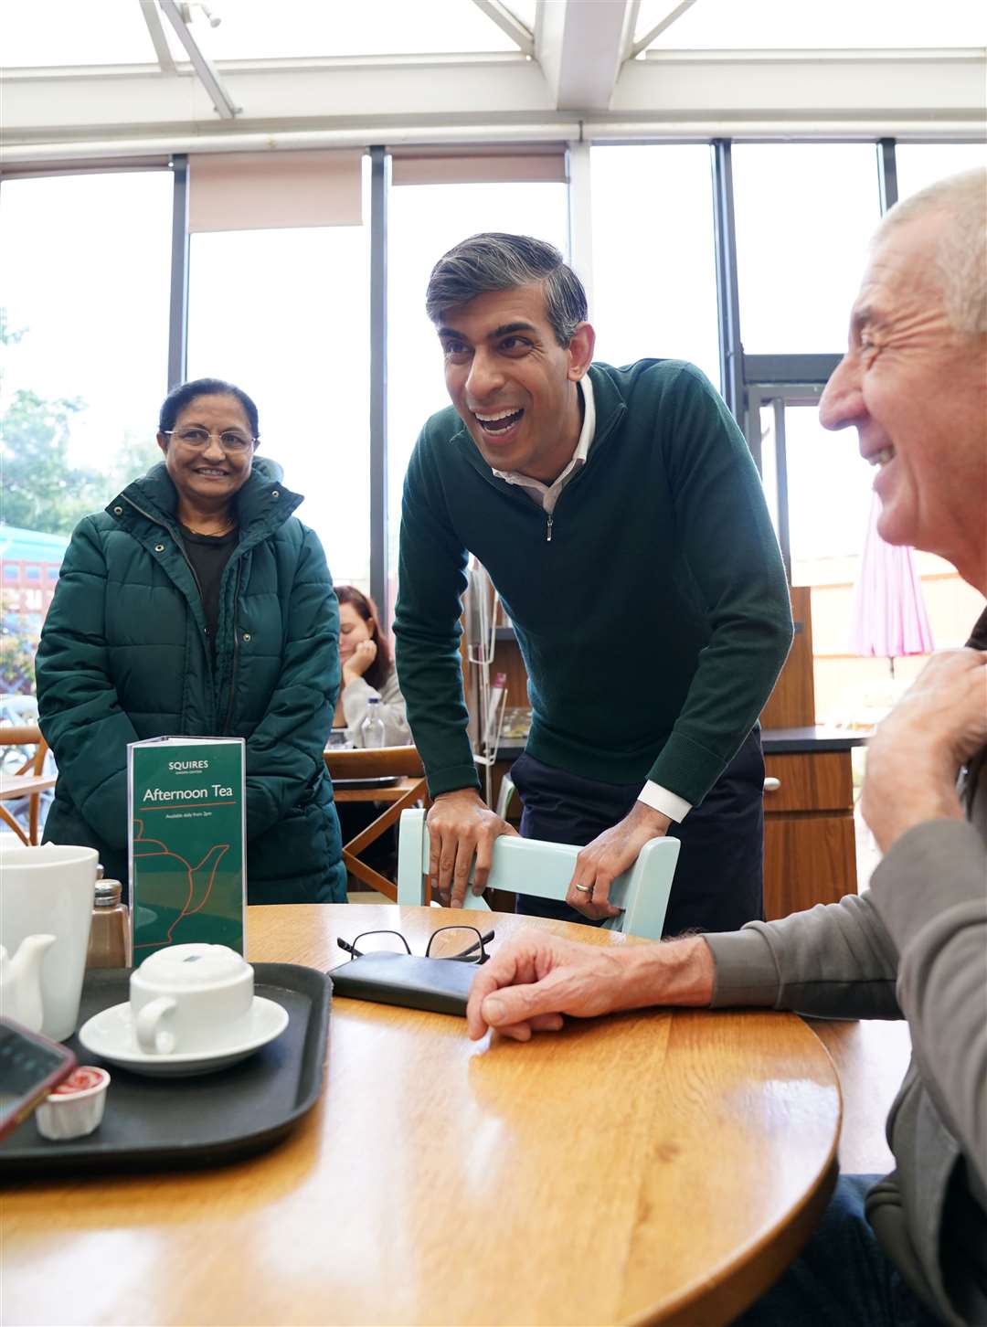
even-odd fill
[{"label": "thick white ceiling beam at top centre, above the laughing man", "polygon": [[627,45],[630,8],[629,0],[540,5],[535,56],[559,110],[609,109]]}]

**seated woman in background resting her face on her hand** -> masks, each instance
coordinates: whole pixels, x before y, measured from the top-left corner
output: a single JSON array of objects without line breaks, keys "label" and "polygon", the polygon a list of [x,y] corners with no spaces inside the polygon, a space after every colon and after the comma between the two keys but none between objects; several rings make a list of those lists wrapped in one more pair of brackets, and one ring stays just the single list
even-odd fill
[{"label": "seated woman in background resting her face on her hand", "polygon": [[398,687],[398,674],[390,649],[377,620],[371,598],[354,585],[337,585],[340,601],[340,664],[342,690],[336,705],[336,727],[348,727],[353,744],[363,746],[360,725],[377,697],[377,717],[383,722],[385,746],[409,746],[411,730],[407,726],[405,698]]}]

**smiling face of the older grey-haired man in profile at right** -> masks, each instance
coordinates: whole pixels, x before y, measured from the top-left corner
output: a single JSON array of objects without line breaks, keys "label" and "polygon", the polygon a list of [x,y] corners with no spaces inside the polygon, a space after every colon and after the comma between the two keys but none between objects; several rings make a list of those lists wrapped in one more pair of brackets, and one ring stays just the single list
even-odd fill
[{"label": "smiling face of the older grey-haired man in profile at right", "polygon": [[956,333],[943,307],[934,259],[946,220],[923,214],[878,240],[820,422],[853,425],[861,456],[878,467],[882,539],[939,553],[967,580],[983,580],[984,338]]}]

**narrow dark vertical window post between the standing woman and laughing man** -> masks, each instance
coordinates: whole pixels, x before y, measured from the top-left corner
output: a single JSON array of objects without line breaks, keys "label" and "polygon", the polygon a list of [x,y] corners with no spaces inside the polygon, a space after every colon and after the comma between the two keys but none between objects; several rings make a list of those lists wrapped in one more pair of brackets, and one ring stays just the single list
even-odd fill
[{"label": "narrow dark vertical window post between the standing woman and laughing man", "polygon": [[387,153],[370,149],[370,593],[387,602]]}]

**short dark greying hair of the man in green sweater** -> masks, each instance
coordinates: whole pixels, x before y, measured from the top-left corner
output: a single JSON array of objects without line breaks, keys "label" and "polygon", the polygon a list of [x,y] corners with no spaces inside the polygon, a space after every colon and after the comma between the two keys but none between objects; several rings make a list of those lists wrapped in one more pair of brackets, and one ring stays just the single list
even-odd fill
[{"label": "short dark greying hair of the man in green sweater", "polygon": [[531,235],[486,231],[456,244],[432,268],[425,307],[438,325],[454,305],[532,283],[545,293],[545,313],[556,341],[568,345],[578,324],[586,321],[586,292],[555,244]]}]

